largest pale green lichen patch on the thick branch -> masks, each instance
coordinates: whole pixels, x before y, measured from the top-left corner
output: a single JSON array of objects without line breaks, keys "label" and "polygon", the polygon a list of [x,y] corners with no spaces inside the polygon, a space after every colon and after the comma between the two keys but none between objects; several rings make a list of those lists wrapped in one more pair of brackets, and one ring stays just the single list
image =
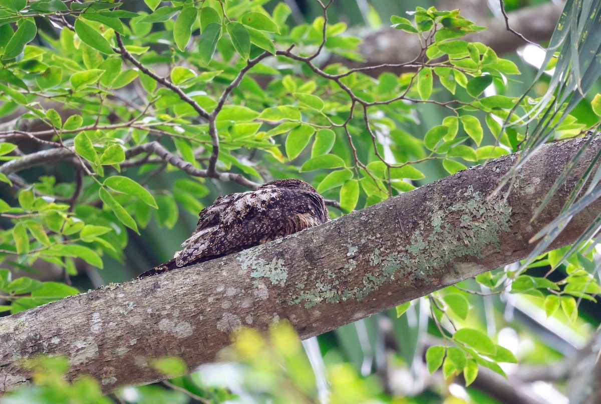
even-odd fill
[{"label": "largest pale green lichen patch on the thick branch", "polygon": [[[325,269],[304,274],[299,282],[303,287],[293,290],[289,304],[304,303],[309,308],[324,301],[361,300],[385,283],[421,285],[432,282],[435,271],[459,258],[482,258],[486,249],[499,251],[500,235],[510,231],[511,207],[507,201],[502,196],[489,201],[471,185],[455,195],[432,198],[426,206],[430,217],[420,218],[419,225],[409,234],[408,244],[377,240],[379,246],[360,253],[361,249],[369,250],[371,246],[363,238],[360,247],[353,248],[353,258],[341,264],[340,271]],[[351,256],[350,252],[349,247],[347,256]],[[370,272],[360,280],[345,282],[346,276],[356,270],[358,262],[368,262]]]}]

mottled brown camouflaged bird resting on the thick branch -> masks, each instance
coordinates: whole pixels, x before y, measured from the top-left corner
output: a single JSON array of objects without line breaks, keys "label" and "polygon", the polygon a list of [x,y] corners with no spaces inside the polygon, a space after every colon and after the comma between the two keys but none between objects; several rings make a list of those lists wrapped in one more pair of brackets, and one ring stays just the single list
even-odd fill
[{"label": "mottled brown camouflaged bird resting on the thick branch", "polygon": [[220,196],[200,211],[183,250],[138,278],[237,253],[329,220],[323,197],[300,179],[278,179],[254,191]]}]

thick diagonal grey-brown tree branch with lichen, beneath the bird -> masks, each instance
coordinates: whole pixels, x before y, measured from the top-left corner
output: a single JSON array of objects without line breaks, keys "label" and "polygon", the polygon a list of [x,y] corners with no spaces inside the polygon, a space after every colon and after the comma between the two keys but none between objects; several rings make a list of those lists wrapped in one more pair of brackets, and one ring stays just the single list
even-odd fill
[{"label": "thick diagonal grey-brown tree branch with lichen, beneath the bird", "polygon": [[[487,197],[516,161],[492,160],[432,184],[235,255],[66,298],[0,319],[0,390],[26,382],[32,355],[64,354],[70,376],[106,391],[161,376],[151,358],[190,369],[212,361],[241,326],[287,319],[305,339],[525,258],[528,239],[560,211],[581,164],[535,222],[533,211],[582,139],[543,147],[507,199]],[[572,243],[601,211],[590,205],[552,247]]]}]

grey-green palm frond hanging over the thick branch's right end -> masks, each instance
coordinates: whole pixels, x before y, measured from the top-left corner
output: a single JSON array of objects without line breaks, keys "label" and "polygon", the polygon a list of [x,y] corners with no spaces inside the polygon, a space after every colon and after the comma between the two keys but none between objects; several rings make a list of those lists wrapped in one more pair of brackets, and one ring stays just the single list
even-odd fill
[{"label": "grey-green palm frond hanging over the thick branch's right end", "polygon": [[[587,92],[590,91],[594,83],[599,79],[599,76],[601,76],[600,22],[601,0],[569,0],[566,2],[564,11],[561,14],[560,20],[557,23],[555,32],[549,43],[545,60],[534,80],[534,82],[537,82],[540,76],[545,72],[545,67],[549,64],[551,58],[557,56],[557,64],[555,65],[554,74],[549,82],[549,89],[546,94],[538,100],[538,103],[518,120],[521,124],[531,124],[533,121],[536,121],[536,124],[532,128],[531,133],[528,134],[528,137],[524,142],[523,151],[520,153],[516,164],[514,164],[504,180],[499,184],[499,187],[497,188],[498,191],[501,190],[501,187],[507,184],[507,182],[516,175],[523,164],[525,164],[526,161],[528,161],[529,158],[538,151],[551,136],[553,136],[554,131],[558,128],[564,118],[584,99]],[[522,96],[520,102],[516,104],[516,108],[517,105],[522,103],[525,97],[527,97],[528,92],[531,89],[532,86],[528,89],[526,94]],[[512,112],[514,112],[514,110]],[[505,126],[508,124],[509,122],[507,119]],[[516,124],[516,122],[513,124]],[[573,169],[575,169],[576,165],[581,160],[584,151],[588,148],[594,137],[591,133],[589,133],[589,136],[590,137],[583,143],[582,148],[566,165],[560,177],[535,212],[532,220],[543,211],[545,206],[552,199],[552,196],[554,196],[557,190],[564,185],[567,177],[572,173]],[[539,239],[542,240],[539,241],[537,247],[535,247],[528,259],[523,262],[520,270],[525,268],[535,256],[548,249],[575,214],[586,208],[601,196],[601,186],[597,185],[601,180],[601,170],[596,172],[588,189],[581,196],[584,185],[590,178],[591,173],[594,172],[600,158],[601,153],[597,153],[593,160],[591,160],[583,173],[581,180],[577,182],[572,193],[568,197],[560,215],[532,237],[530,242]],[[597,231],[599,231],[600,220],[600,218],[597,218],[594,223],[591,223],[587,231],[579,238],[576,247],[569,250],[569,254],[579,250],[578,244],[593,239]],[[564,261],[566,258],[567,255],[565,255],[561,261]]]}]

